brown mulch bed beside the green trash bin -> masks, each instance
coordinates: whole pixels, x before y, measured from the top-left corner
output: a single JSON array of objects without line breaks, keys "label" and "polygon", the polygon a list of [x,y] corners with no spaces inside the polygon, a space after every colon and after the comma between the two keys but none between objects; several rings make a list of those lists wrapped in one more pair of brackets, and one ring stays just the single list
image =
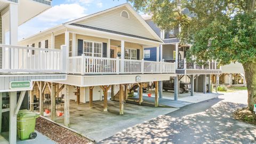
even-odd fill
[{"label": "brown mulch bed beside the green trash bin", "polygon": [[36,119],[36,127],[35,130],[42,133],[46,137],[51,140],[60,143],[60,144],[68,144],[68,143],[94,143],[91,140],[79,135],[73,131],[65,129],[62,126],[54,124],[50,121],[42,117],[38,117]]}]

